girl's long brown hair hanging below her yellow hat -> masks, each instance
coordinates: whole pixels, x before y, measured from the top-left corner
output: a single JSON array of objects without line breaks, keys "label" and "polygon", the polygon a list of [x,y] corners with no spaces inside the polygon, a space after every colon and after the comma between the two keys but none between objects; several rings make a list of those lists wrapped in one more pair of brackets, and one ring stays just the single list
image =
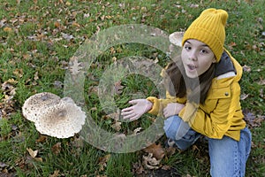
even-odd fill
[{"label": "girl's long brown hair hanging below her yellow hat", "polygon": [[215,68],[216,64],[213,63],[208,71],[199,76],[199,80],[197,78],[192,79],[186,76],[184,66],[179,57],[176,61],[170,62],[165,69],[165,87],[170,93],[170,96],[187,96],[190,102],[199,104],[200,101],[200,104],[204,104],[208,89],[215,76]]}]

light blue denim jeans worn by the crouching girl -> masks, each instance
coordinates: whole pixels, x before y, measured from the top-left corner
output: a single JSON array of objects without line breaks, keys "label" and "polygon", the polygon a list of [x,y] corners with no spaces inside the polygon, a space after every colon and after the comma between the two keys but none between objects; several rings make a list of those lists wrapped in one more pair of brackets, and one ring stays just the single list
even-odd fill
[{"label": "light blue denim jeans worn by the crouching girl", "polygon": [[[180,150],[186,150],[201,136],[178,116],[166,119],[163,129]],[[251,150],[251,133],[247,127],[241,130],[239,142],[225,135],[222,139],[207,139],[211,176],[245,176],[246,160]]]}]

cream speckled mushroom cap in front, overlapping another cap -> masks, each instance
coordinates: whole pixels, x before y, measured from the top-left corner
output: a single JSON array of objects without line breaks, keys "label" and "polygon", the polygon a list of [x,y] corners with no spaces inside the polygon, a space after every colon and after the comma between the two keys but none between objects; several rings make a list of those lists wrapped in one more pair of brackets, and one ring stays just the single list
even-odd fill
[{"label": "cream speckled mushroom cap in front, overlapping another cap", "polygon": [[76,104],[64,101],[50,106],[35,122],[36,129],[44,135],[57,138],[68,138],[82,129],[85,124],[86,113]]}]

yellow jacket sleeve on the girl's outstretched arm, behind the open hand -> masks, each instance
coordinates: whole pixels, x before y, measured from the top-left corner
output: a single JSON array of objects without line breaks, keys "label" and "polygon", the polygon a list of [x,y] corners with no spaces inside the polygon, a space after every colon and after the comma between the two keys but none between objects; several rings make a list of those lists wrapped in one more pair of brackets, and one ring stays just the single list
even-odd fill
[{"label": "yellow jacket sleeve on the girl's outstretched arm, behind the open hand", "polygon": [[169,92],[166,92],[166,98],[164,99],[158,99],[155,96],[149,96],[147,99],[153,104],[152,109],[148,113],[153,114],[153,115],[159,115],[167,104],[170,104],[170,103],[185,104],[186,103],[186,97],[178,98],[176,96],[170,96]]}]

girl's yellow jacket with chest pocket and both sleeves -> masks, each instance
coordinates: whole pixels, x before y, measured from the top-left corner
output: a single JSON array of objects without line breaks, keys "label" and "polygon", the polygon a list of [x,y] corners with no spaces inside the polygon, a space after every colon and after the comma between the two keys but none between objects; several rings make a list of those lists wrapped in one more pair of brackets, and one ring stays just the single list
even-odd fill
[{"label": "girl's yellow jacket with chest pocket and both sleeves", "polygon": [[[169,103],[186,104],[178,116],[188,122],[193,130],[209,138],[222,139],[223,135],[227,135],[239,141],[240,130],[246,127],[239,102],[239,80],[242,76],[242,67],[229,52],[227,53],[237,73],[228,78],[214,78],[205,104],[186,103],[186,98],[170,96],[167,93],[166,99],[157,99],[154,96],[147,98],[153,103],[149,113],[157,115]],[[193,114],[192,118],[191,114]]]}]

